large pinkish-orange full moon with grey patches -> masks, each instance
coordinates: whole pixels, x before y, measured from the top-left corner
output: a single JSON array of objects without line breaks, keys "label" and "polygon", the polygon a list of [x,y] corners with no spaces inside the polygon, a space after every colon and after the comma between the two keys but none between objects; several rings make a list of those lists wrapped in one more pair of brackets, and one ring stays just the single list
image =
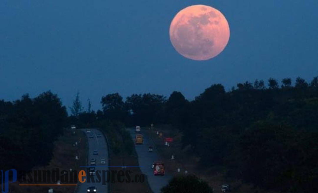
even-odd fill
[{"label": "large pinkish-orange full moon with grey patches", "polygon": [[220,54],[230,38],[224,15],[206,5],[192,5],[179,11],[169,29],[176,51],[192,60],[209,60]]}]

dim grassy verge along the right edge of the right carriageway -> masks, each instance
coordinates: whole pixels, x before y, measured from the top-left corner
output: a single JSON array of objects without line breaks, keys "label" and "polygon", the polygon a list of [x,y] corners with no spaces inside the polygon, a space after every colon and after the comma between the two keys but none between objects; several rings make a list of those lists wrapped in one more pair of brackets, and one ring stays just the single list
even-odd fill
[{"label": "dim grassy verge along the right edge of the right carriageway", "polygon": [[[165,162],[166,171],[177,175],[177,168],[180,168],[180,173],[184,174],[184,171],[188,171],[188,174],[195,174],[199,178],[208,182],[209,186],[214,188],[216,193],[221,193],[222,184],[231,184],[232,189],[236,190],[233,192],[244,192],[244,193],[254,193],[255,189],[252,185],[245,184],[239,180],[229,180],[224,177],[222,172],[215,172],[211,168],[198,168],[200,158],[191,153],[190,147],[182,148],[181,140],[182,134],[172,129],[170,126],[162,126],[150,130],[149,128],[143,128],[147,135],[153,140],[156,149]],[[162,137],[160,138],[156,131],[162,132]],[[172,137],[173,142],[169,144],[169,147],[165,146],[164,139],[167,137]],[[174,155],[174,160],[171,160],[172,155]],[[262,192],[259,190],[259,192]]]}]

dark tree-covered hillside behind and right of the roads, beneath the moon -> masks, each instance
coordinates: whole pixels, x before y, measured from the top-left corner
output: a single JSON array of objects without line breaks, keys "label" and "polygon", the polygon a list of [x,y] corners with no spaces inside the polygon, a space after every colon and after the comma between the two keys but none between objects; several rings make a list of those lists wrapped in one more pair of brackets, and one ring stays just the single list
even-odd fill
[{"label": "dark tree-covered hillside behind and right of the roads, beneath the moon", "polygon": [[226,92],[213,84],[193,101],[180,92],[169,98],[134,94],[102,97],[96,119],[126,125],[171,124],[183,133],[204,167],[226,171],[265,189],[318,192],[318,77],[281,84],[238,83]]}]

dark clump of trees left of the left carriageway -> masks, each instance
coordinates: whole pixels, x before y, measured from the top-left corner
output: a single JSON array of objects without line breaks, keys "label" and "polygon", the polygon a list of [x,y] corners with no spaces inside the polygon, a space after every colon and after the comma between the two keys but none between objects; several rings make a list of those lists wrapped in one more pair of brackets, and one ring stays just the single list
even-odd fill
[{"label": "dark clump of trees left of the left carriageway", "polygon": [[46,165],[52,158],[53,142],[62,134],[66,120],[66,108],[51,91],[33,99],[26,94],[14,102],[1,100],[1,169],[28,170]]}]

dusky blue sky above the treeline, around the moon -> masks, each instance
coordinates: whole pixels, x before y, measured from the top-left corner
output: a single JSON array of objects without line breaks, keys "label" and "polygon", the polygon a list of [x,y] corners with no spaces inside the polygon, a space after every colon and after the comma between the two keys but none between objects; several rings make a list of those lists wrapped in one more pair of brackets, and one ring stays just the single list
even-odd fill
[{"label": "dusky blue sky above the treeline, around the moon", "polygon": [[[178,54],[169,25],[181,9],[205,4],[230,26],[225,50],[208,61]],[[0,99],[52,90],[72,105],[101,108],[103,95],[181,91],[192,100],[221,83],[318,75],[318,1],[12,1],[0,2]]]}]

